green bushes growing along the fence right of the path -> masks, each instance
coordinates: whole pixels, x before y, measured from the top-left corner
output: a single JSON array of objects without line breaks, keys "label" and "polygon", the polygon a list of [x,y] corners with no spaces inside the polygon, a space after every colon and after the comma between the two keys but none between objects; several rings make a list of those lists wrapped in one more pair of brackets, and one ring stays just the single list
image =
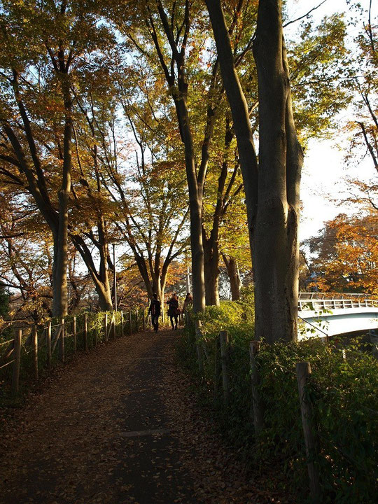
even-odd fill
[{"label": "green bushes growing along the fence right of the path", "polygon": [[[214,407],[221,429],[244,447],[251,463],[272,464],[285,475],[288,488],[307,502],[307,459],[304,449],[295,363],[311,364],[307,397],[313,407],[314,463],[319,473],[322,503],[372,503],[377,498],[378,363],[370,345],[328,343],[309,339],[299,343],[260,345],[256,357],[264,428],[255,438],[251,419],[251,377],[248,345],[253,339],[249,305],[222,303],[209,307],[201,320],[204,372],[198,385]],[[193,324],[194,325],[194,324]],[[186,362],[198,377],[193,325],[187,328]],[[220,330],[230,333],[230,400],[223,404],[216,360]],[[343,351],[344,350],[344,351]],[[219,368],[219,365],[218,365]],[[215,381],[218,381],[216,383]]]}]

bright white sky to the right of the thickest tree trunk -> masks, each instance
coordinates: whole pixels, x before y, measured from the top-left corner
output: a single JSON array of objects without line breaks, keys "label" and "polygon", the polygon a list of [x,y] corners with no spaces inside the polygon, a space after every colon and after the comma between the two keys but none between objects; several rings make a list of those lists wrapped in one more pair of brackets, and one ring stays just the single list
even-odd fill
[{"label": "bright white sky to the right of the thickest tree trunk", "polygon": [[[288,0],[289,19],[299,18],[307,13],[310,8],[317,6],[321,0]],[[363,7],[368,8],[369,0],[361,1]],[[372,18],[377,22],[378,1],[372,3]],[[326,0],[323,5],[312,13],[314,20],[320,21],[324,15],[335,11],[343,12],[347,8],[346,0]],[[296,28],[295,28],[296,27]],[[297,29],[297,23],[290,25],[291,30]],[[288,33],[290,36],[290,32]],[[346,119],[347,112],[343,113],[342,120]],[[316,236],[318,230],[323,228],[325,221],[342,212],[348,213],[349,208],[337,205],[332,198],[337,198],[339,193],[344,193],[346,185],[343,179],[346,176],[355,176],[363,180],[372,179],[374,170],[368,159],[355,167],[346,169],[344,164],[345,152],[339,150],[337,142],[340,132],[335,132],[335,139],[312,140],[305,153],[302,170],[301,200],[302,216],[300,222],[300,240]]]}]

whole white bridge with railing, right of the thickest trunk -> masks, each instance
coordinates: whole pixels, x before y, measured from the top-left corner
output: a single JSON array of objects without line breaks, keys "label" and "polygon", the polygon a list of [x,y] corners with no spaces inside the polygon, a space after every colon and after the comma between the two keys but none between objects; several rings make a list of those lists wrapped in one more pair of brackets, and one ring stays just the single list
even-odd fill
[{"label": "whole white bridge with railing, right of the thickest trunk", "polygon": [[378,300],[368,294],[300,293],[300,339],[378,330]]}]

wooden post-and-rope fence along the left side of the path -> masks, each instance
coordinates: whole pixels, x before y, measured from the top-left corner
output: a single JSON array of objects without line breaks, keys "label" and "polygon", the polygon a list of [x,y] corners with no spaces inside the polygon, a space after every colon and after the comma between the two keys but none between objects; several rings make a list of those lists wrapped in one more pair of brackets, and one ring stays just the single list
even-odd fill
[{"label": "wooden post-and-rope fence along the left side of the path", "polygon": [[[0,334],[0,403],[8,396],[16,398],[41,374],[72,358],[77,351],[89,351],[98,344],[145,330],[146,315],[145,309],[132,308],[67,316],[22,329],[8,327],[3,335],[5,341],[1,341]],[[13,339],[9,339],[10,330]]]}]

